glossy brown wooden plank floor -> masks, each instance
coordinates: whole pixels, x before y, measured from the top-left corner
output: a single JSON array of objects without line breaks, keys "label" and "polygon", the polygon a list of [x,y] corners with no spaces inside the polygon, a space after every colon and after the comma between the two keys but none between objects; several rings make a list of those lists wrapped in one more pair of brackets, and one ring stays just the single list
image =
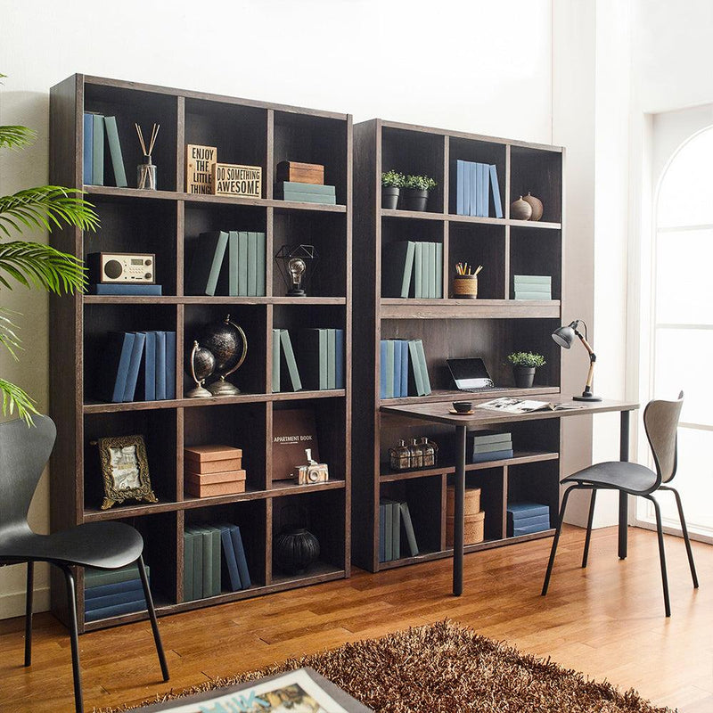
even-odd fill
[{"label": "glossy brown wooden plank floor", "polygon": [[[147,622],[80,638],[86,709],[141,701],[399,628],[450,618],[521,650],[682,713],[713,711],[713,546],[694,544],[693,590],[681,540],[667,537],[672,617],[663,615],[656,537],[629,529],[619,561],[615,529],[563,533],[550,593],[539,596],[551,541],[474,553],[465,589],[449,595],[450,561],[437,561],[160,619],[171,669],[160,681]],[[22,619],[0,621],[0,710],[73,710],[70,643],[50,614],[36,617],[33,665],[21,666]]]}]

